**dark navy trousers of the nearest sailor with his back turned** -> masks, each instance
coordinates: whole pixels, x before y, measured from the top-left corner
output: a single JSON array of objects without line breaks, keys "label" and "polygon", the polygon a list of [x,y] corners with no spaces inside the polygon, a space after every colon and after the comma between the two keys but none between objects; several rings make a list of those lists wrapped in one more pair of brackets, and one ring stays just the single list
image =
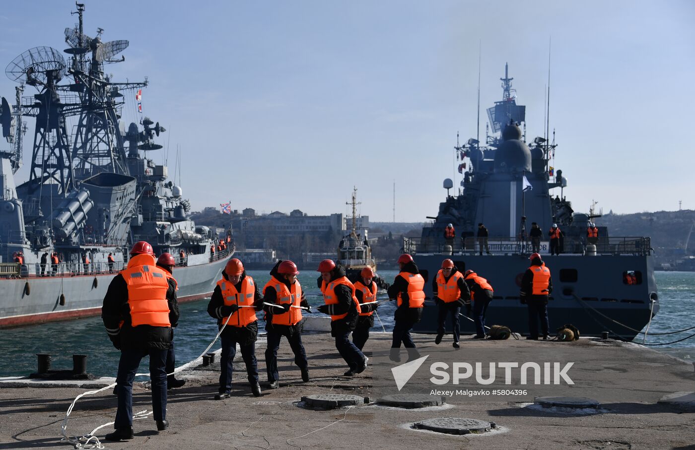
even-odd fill
[{"label": "dark navy trousers of the nearest sailor with his back turned", "polygon": [[167,361],[166,349],[121,351],[116,376],[118,410],[113,428],[133,426],[133,380],[140,360],[149,355],[149,376],[152,379],[152,412],[155,420],[167,416]]}]

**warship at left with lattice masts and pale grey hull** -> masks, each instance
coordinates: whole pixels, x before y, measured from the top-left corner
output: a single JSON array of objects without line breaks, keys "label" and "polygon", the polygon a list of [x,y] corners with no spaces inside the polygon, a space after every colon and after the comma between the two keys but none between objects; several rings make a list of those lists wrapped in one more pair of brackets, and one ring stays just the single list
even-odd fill
[{"label": "warship at left with lattice masts and pale grey hull", "polygon": [[[104,72],[129,42],[101,40],[79,23],[65,28],[68,60],[35,47],[6,68],[15,101],[2,99],[8,148],[0,151],[0,328],[97,315],[111,278],[134,242],[172,253],[179,301],[208,297],[234,253],[231,229],[218,233],[188,219],[190,203],[147,153],[162,149],[165,128],[142,117],[142,82],[118,83]],[[24,90],[35,94],[23,97]],[[126,96],[140,120],[125,126]],[[134,117],[138,116],[134,112]],[[28,181],[22,166],[26,123],[35,122]],[[218,251],[214,251],[217,249]]]}]

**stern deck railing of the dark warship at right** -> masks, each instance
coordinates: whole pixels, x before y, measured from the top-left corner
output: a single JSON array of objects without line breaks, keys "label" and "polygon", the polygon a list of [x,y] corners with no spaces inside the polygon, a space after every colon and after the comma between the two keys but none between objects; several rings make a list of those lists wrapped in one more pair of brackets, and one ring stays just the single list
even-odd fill
[{"label": "stern deck railing of the dark warship at right", "polygon": [[[484,247],[484,238],[403,238],[404,253],[417,254],[475,254],[489,251],[493,254],[518,254],[528,255],[533,253],[531,240],[519,240],[517,238],[493,237],[487,238],[487,248]],[[587,253],[587,238],[575,238],[566,236],[562,239],[561,254],[583,255]],[[481,245],[483,246],[481,248]],[[598,238],[594,243],[598,255],[651,255],[650,238],[644,237],[610,237]],[[541,238],[539,244],[540,253],[550,253],[548,239]]]}]

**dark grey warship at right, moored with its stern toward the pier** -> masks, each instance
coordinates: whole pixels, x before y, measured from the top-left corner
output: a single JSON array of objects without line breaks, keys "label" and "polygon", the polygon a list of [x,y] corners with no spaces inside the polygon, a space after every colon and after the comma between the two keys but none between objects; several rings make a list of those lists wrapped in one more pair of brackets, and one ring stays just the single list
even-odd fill
[{"label": "dark grey warship at right, moored with its stern toward the pier", "polygon": [[[632,340],[659,310],[650,239],[611,236],[606,227],[598,227],[598,239],[587,238],[587,227],[598,216],[593,210],[576,213],[564,197],[567,178],[552,167],[557,144],[554,136],[550,142],[549,127],[543,127],[544,137],[526,143],[525,106],[516,104],[508,70],[505,65],[500,78],[502,100],[487,110],[484,144],[471,138],[455,147],[462,175],[458,195],[450,194],[454,183],[445,179],[447,195],[438,214],[428,217],[434,220],[420,238],[404,239],[404,251],[414,256],[430,299],[432,278],[442,260],[451,258],[460,272],[473,269],[491,283],[494,297],[486,324],[528,333],[519,289],[530,253],[537,250],[528,236],[528,223],[535,222],[545,236],[536,244],[553,278],[551,330],[573,324],[582,335],[608,332]],[[560,192],[553,196],[553,190]],[[448,224],[455,226],[454,242],[444,238]],[[489,231],[485,253],[480,247],[484,238],[477,238],[479,224]],[[549,254],[548,230],[554,224],[563,234],[559,255]],[[414,329],[436,332],[436,317],[435,307],[425,307]],[[461,318],[461,332],[475,333],[473,322]]]}]

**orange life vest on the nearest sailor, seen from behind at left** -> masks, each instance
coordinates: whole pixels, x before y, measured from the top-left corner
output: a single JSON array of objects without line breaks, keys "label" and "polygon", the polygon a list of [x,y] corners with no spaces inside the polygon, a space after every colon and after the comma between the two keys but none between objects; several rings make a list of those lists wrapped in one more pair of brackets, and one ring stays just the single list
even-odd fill
[{"label": "orange life vest on the nearest sailor, seen from behind at left", "polygon": [[128,285],[128,306],[133,326],[171,326],[167,271],[155,263],[152,255],[136,255],[121,272]]}]

